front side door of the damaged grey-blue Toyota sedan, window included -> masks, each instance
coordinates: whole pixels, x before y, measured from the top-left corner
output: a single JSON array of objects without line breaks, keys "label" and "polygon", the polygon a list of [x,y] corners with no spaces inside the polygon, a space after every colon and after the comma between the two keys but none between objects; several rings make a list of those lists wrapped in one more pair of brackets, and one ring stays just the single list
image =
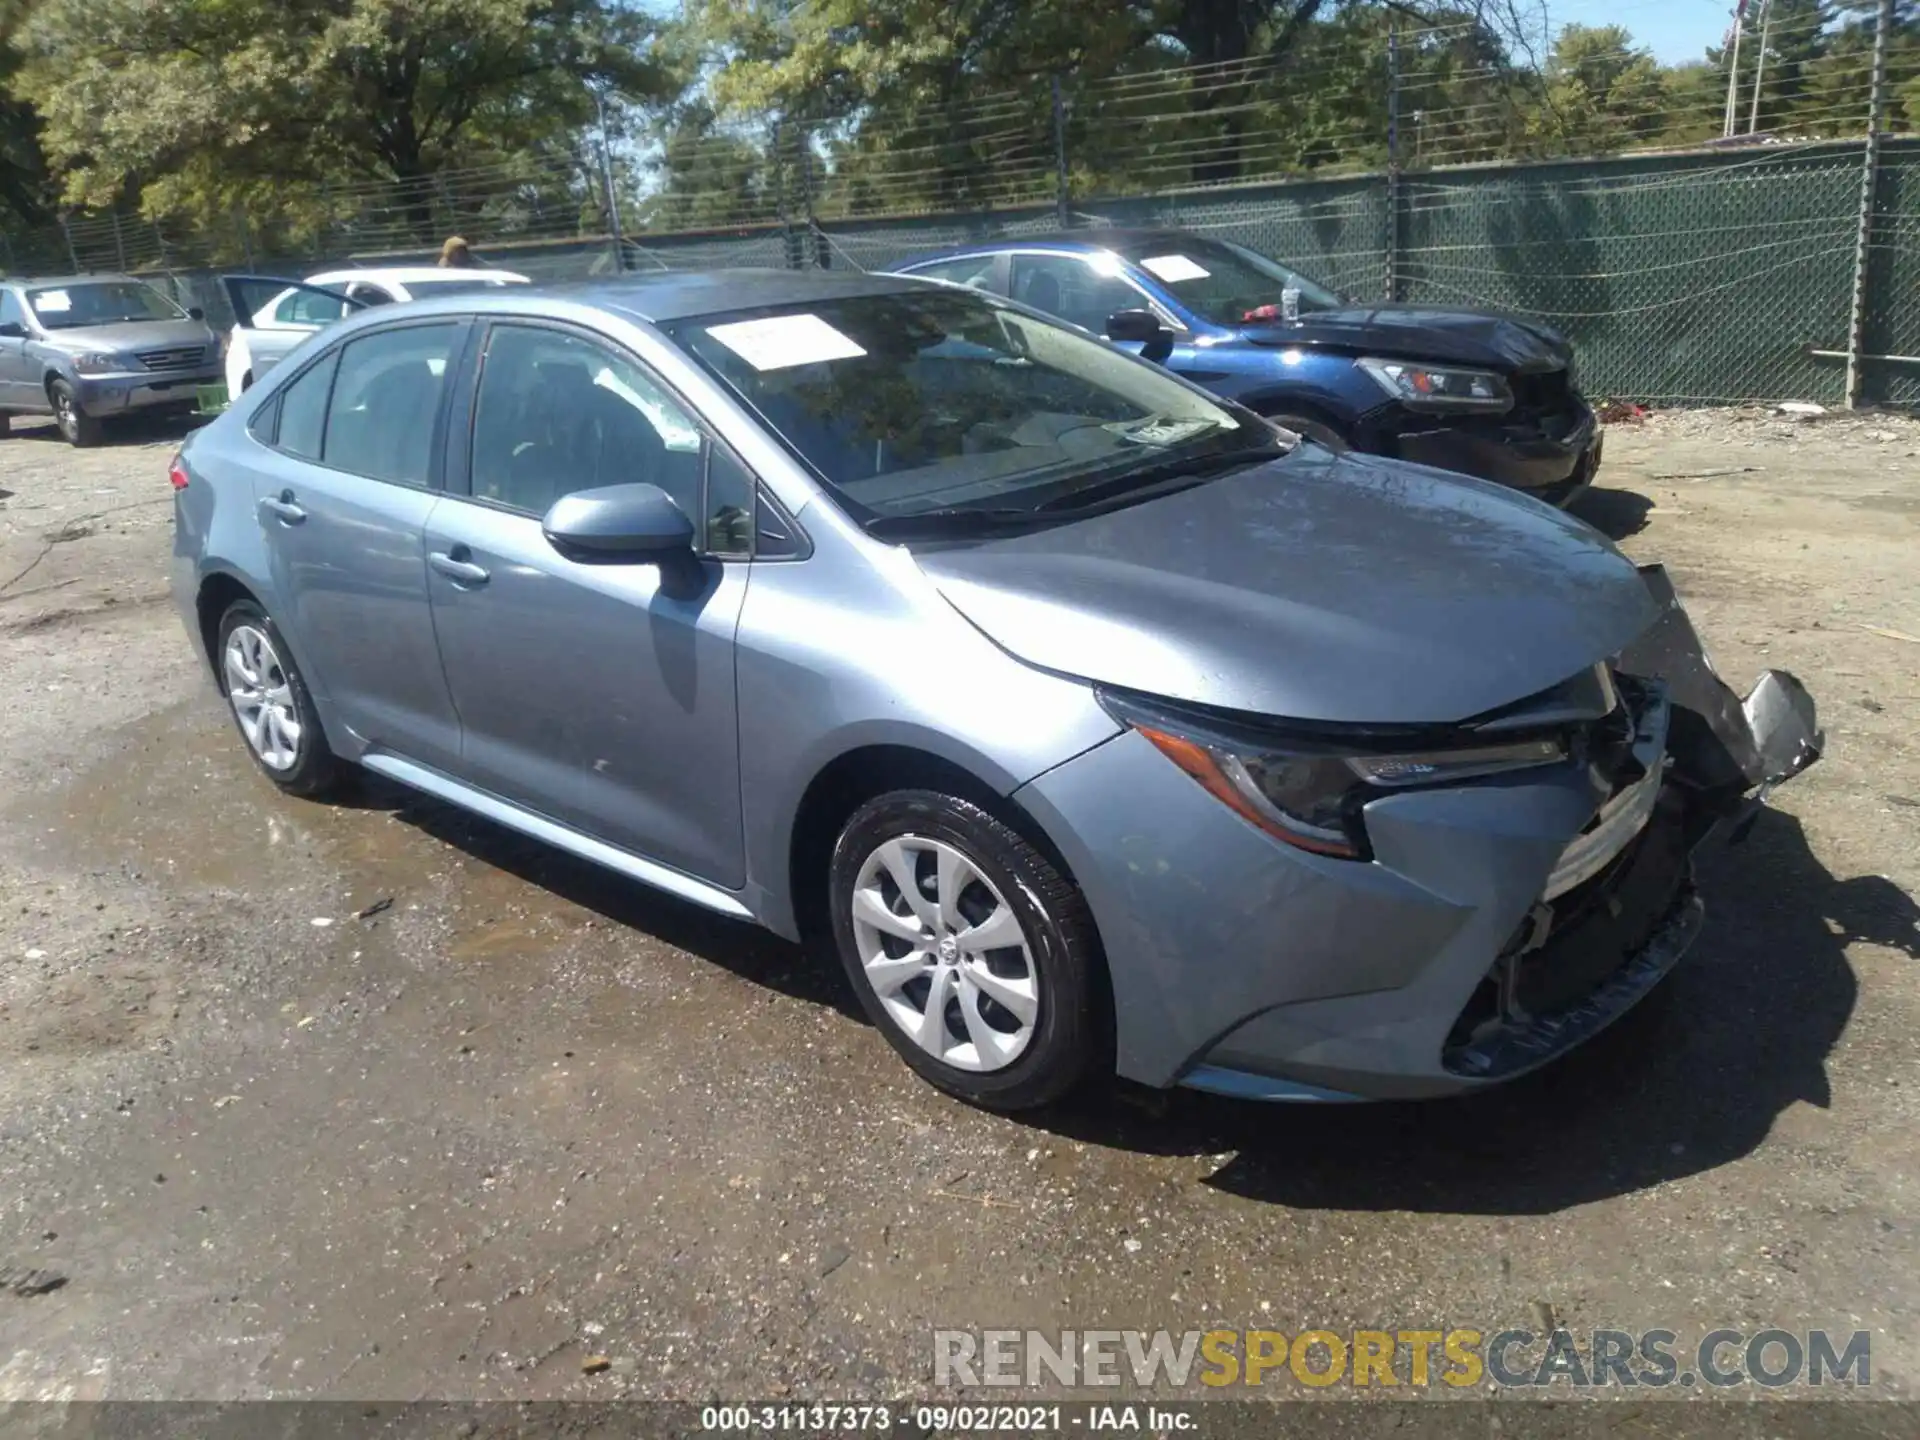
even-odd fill
[{"label": "front side door of the damaged grey-blue Toyota sedan, window included", "polygon": [[[426,526],[457,774],[737,889],[733,634],[747,564],[699,540],[710,455],[699,424],[605,340],[511,323],[488,334],[468,434],[468,493],[449,493]],[[687,511],[697,549],[580,563],[541,534],[561,495],[632,482]]]}]

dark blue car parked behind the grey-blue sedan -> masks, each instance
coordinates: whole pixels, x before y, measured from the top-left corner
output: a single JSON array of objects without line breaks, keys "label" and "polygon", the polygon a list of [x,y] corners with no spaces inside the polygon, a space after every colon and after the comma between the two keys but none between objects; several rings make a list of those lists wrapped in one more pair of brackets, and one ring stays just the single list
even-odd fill
[{"label": "dark blue car parked behind the grey-blue sedan", "polygon": [[1515,315],[1352,301],[1181,230],[995,240],[895,273],[1071,321],[1329,449],[1461,470],[1551,505],[1599,468],[1572,348]]}]

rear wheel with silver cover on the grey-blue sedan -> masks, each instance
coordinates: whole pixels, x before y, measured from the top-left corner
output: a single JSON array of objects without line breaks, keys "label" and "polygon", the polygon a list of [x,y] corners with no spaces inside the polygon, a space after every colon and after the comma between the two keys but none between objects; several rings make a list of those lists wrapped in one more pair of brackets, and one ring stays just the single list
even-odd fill
[{"label": "rear wheel with silver cover on the grey-blue sedan", "polygon": [[227,708],[261,774],[288,795],[334,789],[344,766],[273,618],[253,601],[234,601],[213,653]]}]

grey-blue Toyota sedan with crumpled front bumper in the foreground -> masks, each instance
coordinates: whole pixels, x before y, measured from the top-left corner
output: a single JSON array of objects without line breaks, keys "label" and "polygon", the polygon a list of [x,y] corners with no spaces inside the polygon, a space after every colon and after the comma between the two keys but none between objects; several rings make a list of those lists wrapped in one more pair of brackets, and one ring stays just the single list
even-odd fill
[{"label": "grey-blue Toyota sedan with crumpled front bumper in the foreground", "polygon": [[1818,753],[1659,568],[968,290],[371,311],[173,467],[261,770],[353,766],[781,935],[968,1100],[1523,1073],[1653,987]]}]

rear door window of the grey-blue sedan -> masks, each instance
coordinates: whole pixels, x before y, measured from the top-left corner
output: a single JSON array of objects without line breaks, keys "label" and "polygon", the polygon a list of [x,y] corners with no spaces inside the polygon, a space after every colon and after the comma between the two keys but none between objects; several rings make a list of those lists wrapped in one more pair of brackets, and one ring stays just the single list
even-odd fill
[{"label": "rear door window of the grey-blue sedan", "polygon": [[[428,484],[434,417],[459,332],[459,323],[409,324],[342,346],[321,463],[401,486]],[[284,445],[284,417],[280,438]]]}]

